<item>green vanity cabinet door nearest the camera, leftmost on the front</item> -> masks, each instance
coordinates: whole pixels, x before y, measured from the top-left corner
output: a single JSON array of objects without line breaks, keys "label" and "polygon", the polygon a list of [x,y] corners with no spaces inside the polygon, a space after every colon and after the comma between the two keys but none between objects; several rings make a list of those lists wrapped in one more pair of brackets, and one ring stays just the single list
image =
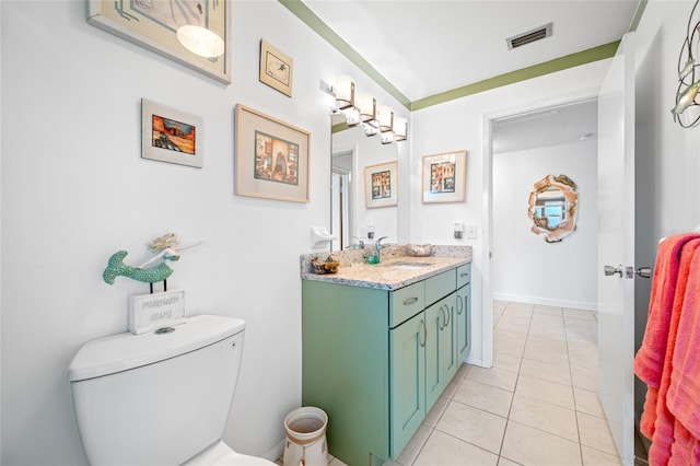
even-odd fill
[{"label": "green vanity cabinet door nearest the camera, leftmost on the front", "polygon": [[423,312],[389,330],[392,457],[404,450],[425,418],[425,339]]}]

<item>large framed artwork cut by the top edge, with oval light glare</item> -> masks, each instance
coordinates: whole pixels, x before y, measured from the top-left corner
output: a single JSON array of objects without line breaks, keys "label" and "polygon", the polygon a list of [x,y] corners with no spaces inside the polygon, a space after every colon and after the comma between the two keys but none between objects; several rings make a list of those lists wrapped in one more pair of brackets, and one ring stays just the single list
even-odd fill
[{"label": "large framed artwork cut by the top edge, with oval light glare", "polygon": [[[231,10],[225,0],[88,0],[88,22],[101,30],[167,57],[180,65],[231,83]],[[223,39],[218,57],[201,57],[177,39],[184,25],[201,26]]]}]

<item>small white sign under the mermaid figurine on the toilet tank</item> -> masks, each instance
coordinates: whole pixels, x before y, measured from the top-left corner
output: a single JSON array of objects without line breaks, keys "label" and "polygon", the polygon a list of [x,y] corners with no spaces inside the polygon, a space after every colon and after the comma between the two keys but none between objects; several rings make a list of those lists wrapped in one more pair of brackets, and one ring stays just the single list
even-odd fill
[{"label": "small white sign under the mermaid figurine on the toilet tank", "polygon": [[139,335],[185,322],[185,290],[129,296],[129,331]]}]

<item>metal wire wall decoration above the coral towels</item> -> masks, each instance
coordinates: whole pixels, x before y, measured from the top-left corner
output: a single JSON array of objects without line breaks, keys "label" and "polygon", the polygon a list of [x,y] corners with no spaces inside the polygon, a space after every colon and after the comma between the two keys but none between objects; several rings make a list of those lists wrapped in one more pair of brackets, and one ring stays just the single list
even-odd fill
[{"label": "metal wire wall decoration above the coral towels", "polygon": [[[696,62],[698,56],[698,49],[700,45],[700,37],[698,27],[700,27],[700,21],[693,15],[698,8],[698,1],[690,11],[690,18],[688,18],[688,27],[686,31],[686,39],[680,48],[678,55],[678,89],[676,90],[676,106],[672,108],[670,113],[674,116],[674,121],[682,128],[691,128],[700,123],[700,110],[690,107],[700,106],[697,102],[698,92],[700,91],[700,73],[696,73],[696,68],[700,63]],[[686,110],[688,110],[686,113]]]}]

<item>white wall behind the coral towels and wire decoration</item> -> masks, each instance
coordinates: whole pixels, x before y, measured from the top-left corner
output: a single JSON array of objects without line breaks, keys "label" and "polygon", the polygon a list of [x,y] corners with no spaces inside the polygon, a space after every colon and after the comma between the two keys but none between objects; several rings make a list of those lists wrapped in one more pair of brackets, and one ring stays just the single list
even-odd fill
[{"label": "white wall behind the coral towels and wire decoration", "polygon": [[[653,269],[660,238],[700,229],[700,128],[682,129],[670,115],[678,85],[678,54],[693,3],[652,0],[637,30],[638,267],[651,266]],[[646,326],[651,281],[635,280],[634,288],[639,348]],[[638,417],[644,396],[645,386],[637,381]]]}]

